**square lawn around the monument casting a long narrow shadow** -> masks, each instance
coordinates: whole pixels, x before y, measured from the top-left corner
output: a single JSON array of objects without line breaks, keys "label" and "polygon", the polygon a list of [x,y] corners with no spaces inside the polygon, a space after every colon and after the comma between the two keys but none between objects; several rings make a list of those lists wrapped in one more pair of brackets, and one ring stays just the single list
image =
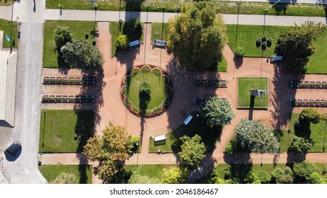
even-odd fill
[{"label": "square lawn around the monument casting a long narrow shadow", "polygon": [[238,78],[238,103],[237,107],[253,107],[264,108],[268,107],[268,94],[263,93],[263,98],[254,99],[254,103],[251,104],[251,89],[269,90],[268,78]]}]

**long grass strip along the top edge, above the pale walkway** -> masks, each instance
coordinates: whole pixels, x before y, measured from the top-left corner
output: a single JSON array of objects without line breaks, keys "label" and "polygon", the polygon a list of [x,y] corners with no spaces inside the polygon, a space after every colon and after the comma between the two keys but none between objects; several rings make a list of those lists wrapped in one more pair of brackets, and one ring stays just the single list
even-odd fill
[{"label": "long grass strip along the top edge, above the pale walkway", "polygon": [[[1,0],[4,1],[4,0]],[[120,4],[121,2],[121,4]],[[46,8],[57,9],[58,5],[62,5],[62,9],[74,10],[93,10],[94,6],[88,1],[81,0],[47,0]],[[99,11],[163,11],[178,12],[180,6],[179,0],[170,1],[134,1],[134,0],[103,0],[98,1]],[[182,4],[195,4],[193,0],[185,0]],[[220,13],[236,14],[238,5],[236,1],[217,1],[218,11]],[[263,2],[241,2],[241,14],[264,14],[264,10],[271,6],[270,3]],[[268,9],[267,15],[285,15],[285,16],[325,16],[323,5],[312,6],[312,4],[277,4]]]}]

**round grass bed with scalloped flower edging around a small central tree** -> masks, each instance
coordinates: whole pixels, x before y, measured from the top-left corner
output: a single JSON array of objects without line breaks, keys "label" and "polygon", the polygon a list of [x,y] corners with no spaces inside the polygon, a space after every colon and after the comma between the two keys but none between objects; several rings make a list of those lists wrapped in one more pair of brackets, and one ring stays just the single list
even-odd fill
[{"label": "round grass bed with scalloped flower edging around a small central tree", "polygon": [[[140,92],[142,83],[149,86],[149,95],[144,99]],[[171,101],[173,88],[166,72],[152,65],[132,68],[122,80],[120,95],[130,112],[137,116],[155,117],[166,111]]]}]

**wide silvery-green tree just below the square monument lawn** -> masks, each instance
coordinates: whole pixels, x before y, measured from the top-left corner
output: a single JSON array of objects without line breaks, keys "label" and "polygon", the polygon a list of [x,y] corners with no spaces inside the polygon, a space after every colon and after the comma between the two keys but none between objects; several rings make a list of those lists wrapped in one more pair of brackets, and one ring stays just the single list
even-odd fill
[{"label": "wide silvery-green tree just below the square monument lawn", "polygon": [[236,140],[252,152],[277,153],[280,143],[277,137],[267,130],[259,120],[242,119],[234,128]]}]

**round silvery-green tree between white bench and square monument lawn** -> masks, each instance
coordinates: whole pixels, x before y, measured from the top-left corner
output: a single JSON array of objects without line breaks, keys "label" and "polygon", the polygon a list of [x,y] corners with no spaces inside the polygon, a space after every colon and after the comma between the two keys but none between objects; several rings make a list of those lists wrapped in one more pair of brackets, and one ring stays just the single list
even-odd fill
[{"label": "round silvery-green tree between white bench and square monument lawn", "polygon": [[223,127],[226,124],[231,124],[231,120],[235,117],[231,105],[228,100],[222,100],[217,97],[210,97],[200,105],[202,117],[207,119],[207,124],[210,127]]}]

